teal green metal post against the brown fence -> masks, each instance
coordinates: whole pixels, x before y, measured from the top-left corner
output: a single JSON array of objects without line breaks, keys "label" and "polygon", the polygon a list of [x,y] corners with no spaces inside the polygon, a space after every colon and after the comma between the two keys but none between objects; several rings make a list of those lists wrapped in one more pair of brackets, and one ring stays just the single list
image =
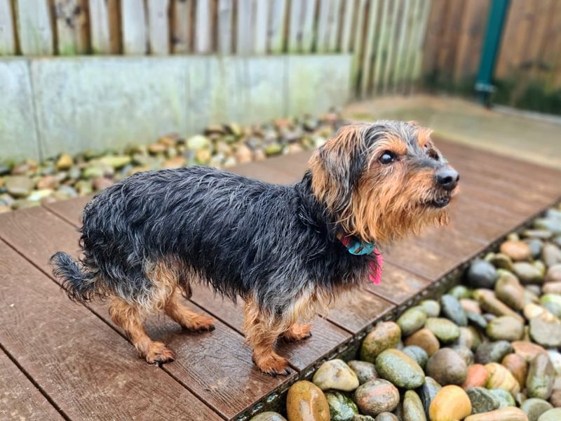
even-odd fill
[{"label": "teal green metal post against the brown fence", "polygon": [[480,93],[481,100],[485,105],[489,105],[489,94],[494,91],[492,77],[509,3],[510,0],[493,0],[489,9],[487,30],[485,31],[479,62],[478,79],[475,81],[475,91]]}]

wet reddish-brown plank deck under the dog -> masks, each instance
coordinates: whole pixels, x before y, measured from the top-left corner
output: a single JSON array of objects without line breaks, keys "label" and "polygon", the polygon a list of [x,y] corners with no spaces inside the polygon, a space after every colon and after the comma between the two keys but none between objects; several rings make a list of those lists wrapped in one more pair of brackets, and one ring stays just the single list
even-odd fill
[{"label": "wet reddish-brown plank deck under the dog", "polygon": [[[310,340],[280,344],[292,363],[288,377],[255,369],[241,333],[241,306],[206,288],[197,288],[187,305],[217,318],[216,330],[183,333],[168,319],[150,319],[149,334],[168,343],[177,360],[148,366],[104,305],[70,302],[50,274],[53,252],[77,255],[76,228],[88,198],[0,215],[0,419],[247,419],[274,406],[319,361],[354,349],[373,323],[434,293],[468,260],[561,197],[560,172],[437,143],[461,173],[452,224],[383,250],[381,285],[358,304],[318,319]],[[308,157],[283,156],[235,171],[289,183],[302,175]]]}]

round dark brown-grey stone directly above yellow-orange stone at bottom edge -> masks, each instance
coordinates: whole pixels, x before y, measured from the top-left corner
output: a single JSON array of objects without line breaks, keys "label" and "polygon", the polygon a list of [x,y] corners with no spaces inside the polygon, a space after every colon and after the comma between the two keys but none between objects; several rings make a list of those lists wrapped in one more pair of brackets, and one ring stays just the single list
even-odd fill
[{"label": "round dark brown-grey stone directly above yellow-orange stone at bottom edge", "polygon": [[453,349],[438,349],[426,363],[426,375],[439,385],[461,385],[468,375],[466,361]]}]

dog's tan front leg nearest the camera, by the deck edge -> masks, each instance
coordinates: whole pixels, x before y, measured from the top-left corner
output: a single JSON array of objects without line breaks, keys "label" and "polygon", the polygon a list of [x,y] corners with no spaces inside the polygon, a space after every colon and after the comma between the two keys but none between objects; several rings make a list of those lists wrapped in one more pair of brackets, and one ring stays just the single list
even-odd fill
[{"label": "dog's tan front leg nearest the camera, by the deck edge", "polygon": [[285,330],[281,319],[263,312],[254,300],[248,298],[244,308],[243,332],[253,349],[253,362],[264,373],[288,375],[288,360],[278,355],[273,346]]}]

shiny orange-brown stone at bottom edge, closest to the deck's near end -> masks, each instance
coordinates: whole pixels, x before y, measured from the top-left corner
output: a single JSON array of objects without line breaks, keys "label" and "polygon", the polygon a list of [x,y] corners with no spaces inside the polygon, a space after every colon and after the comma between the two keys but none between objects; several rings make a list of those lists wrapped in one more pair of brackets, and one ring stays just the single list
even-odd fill
[{"label": "shiny orange-brown stone at bottom edge, closest to the deck's near end", "polygon": [[329,405],[319,387],[301,380],[288,389],[286,413],[290,421],[329,421]]}]

